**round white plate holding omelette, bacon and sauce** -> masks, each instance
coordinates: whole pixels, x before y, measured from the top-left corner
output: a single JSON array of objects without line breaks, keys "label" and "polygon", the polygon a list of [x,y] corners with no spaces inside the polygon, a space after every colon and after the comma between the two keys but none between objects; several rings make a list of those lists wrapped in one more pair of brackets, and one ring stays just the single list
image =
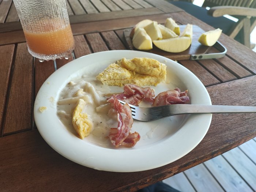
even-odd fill
[{"label": "round white plate holding omelette, bacon and sauce", "polygon": [[[167,165],[189,153],[206,135],[211,114],[193,114],[166,117],[153,122],[134,121],[132,132],[141,139],[132,148],[101,146],[93,138],[79,139],[61,124],[56,114],[57,99],[61,89],[77,76],[94,75],[110,63],[121,58],[153,58],[167,65],[167,82],[153,87],[156,94],[179,87],[188,89],[191,104],[211,105],[210,96],[200,80],[187,68],[156,54],[113,50],[80,57],[55,71],[42,85],[35,99],[34,118],[45,141],[64,157],[91,167],[112,172],[137,172]],[[46,106],[45,112],[39,112]],[[110,142],[109,142],[110,143]]]}]

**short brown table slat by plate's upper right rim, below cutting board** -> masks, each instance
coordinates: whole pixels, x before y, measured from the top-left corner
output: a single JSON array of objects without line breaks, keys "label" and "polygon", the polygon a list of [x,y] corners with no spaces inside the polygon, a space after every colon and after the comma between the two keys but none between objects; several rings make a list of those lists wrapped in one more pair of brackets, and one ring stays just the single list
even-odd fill
[{"label": "short brown table slat by plate's upper right rim, below cutting board", "polygon": [[180,63],[189,69],[193,74],[195,74],[204,84],[204,86],[210,86],[220,83],[212,74],[210,74],[206,69],[199,65],[196,61],[184,60]]}]

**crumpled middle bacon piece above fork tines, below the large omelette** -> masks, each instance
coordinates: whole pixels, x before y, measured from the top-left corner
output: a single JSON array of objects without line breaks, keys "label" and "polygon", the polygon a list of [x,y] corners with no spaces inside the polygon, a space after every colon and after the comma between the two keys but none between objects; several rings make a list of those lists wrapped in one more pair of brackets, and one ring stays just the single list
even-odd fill
[{"label": "crumpled middle bacon piece above fork tines, below the large omelette", "polygon": [[134,84],[125,84],[124,93],[114,94],[109,99],[108,102],[113,103],[114,99],[119,99],[131,105],[138,106],[140,101],[144,98],[146,101],[152,102],[155,97],[154,90],[150,87],[139,87]]}]

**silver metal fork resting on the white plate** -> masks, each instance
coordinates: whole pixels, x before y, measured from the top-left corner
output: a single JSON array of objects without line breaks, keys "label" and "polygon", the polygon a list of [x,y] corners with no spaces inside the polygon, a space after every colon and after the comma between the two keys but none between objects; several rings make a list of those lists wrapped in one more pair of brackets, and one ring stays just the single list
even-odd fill
[{"label": "silver metal fork resting on the white plate", "polygon": [[[118,101],[121,104],[125,104],[121,100]],[[174,104],[142,108],[127,104],[132,110],[132,118],[138,121],[154,121],[173,115],[192,113],[256,113],[256,106]]]}]

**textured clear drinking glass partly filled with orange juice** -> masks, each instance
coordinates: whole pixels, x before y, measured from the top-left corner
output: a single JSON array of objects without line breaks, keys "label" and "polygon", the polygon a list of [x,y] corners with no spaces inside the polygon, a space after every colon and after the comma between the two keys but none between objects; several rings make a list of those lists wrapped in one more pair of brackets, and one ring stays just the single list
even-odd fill
[{"label": "textured clear drinking glass partly filled with orange juice", "polygon": [[70,57],[74,50],[65,0],[14,0],[29,52],[41,60]]}]

